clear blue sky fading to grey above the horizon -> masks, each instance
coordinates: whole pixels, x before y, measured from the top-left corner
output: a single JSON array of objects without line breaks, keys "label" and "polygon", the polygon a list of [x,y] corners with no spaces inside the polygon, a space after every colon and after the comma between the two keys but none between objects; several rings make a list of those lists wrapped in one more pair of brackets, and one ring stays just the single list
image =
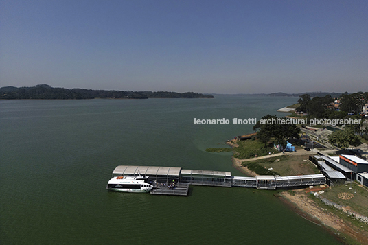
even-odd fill
[{"label": "clear blue sky fading to grey above the horizon", "polygon": [[0,0],[0,86],[368,91],[368,1]]}]

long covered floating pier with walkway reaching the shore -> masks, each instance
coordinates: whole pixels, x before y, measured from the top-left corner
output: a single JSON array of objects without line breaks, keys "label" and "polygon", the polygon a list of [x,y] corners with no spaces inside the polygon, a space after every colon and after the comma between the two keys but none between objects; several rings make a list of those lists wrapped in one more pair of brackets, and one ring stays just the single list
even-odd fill
[{"label": "long covered floating pier with walkway reaching the shore", "polygon": [[[149,176],[156,195],[187,196],[189,185],[214,187],[249,187],[257,189],[277,189],[325,185],[323,174],[297,176],[258,175],[255,177],[231,176],[231,172],[213,170],[183,170],[181,167],[148,167],[120,165],[115,167],[113,176]],[[170,185],[174,183],[174,185]]]}]

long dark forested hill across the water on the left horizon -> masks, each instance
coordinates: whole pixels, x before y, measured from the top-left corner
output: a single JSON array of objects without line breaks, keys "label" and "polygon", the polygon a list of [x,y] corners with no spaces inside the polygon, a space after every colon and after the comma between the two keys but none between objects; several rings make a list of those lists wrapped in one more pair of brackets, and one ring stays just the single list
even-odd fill
[{"label": "long dark forested hill across the water on the left horizon", "polygon": [[92,89],[64,89],[53,88],[47,84],[32,87],[16,88],[4,86],[0,88],[0,100],[38,99],[38,100],[82,100],[94,98],[113,99],[148,99],[148,98],[213,98],[212,95],[202,93],[176,93],[151,91],[113,91]]}]

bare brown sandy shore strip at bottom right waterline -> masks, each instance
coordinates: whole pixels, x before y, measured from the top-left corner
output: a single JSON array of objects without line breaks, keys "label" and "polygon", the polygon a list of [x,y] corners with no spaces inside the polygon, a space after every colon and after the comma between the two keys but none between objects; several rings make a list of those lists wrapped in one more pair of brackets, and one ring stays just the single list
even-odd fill
[{"label": "bare brown sandy shore strip at bottom right waterline", "polygon": [[343,238],[346,235],[349,235],[349,237],[354,238],[354,240],[362,244],[368,244],[368,233],[366,231],[358,229],[358,227],[353,226],[350,222],[344,221],[334,213],[323,209],[314,200],[306,196],[305,189],[293,191],[295,191],[294,196],[290,195],[287,191],[281,192],[282,199],[303,218],[329,229],[341,242],[343,242]]}]

